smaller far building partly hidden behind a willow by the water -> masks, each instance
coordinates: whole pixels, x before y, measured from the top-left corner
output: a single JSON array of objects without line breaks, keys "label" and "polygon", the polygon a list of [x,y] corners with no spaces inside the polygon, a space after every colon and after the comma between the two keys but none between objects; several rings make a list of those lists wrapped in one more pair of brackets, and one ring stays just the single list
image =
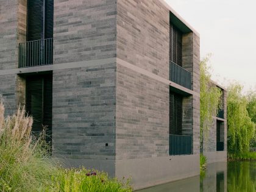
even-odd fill
[{"label": "smaller far building partly hidden behind a willow by the water", "polygon": [[212,81],[212,85],[221,90],[221,107],[213,116],[212,127],[204,133],[203,148],[201,149],[207,163],[227,161],[227,91],[221,85]]}]

